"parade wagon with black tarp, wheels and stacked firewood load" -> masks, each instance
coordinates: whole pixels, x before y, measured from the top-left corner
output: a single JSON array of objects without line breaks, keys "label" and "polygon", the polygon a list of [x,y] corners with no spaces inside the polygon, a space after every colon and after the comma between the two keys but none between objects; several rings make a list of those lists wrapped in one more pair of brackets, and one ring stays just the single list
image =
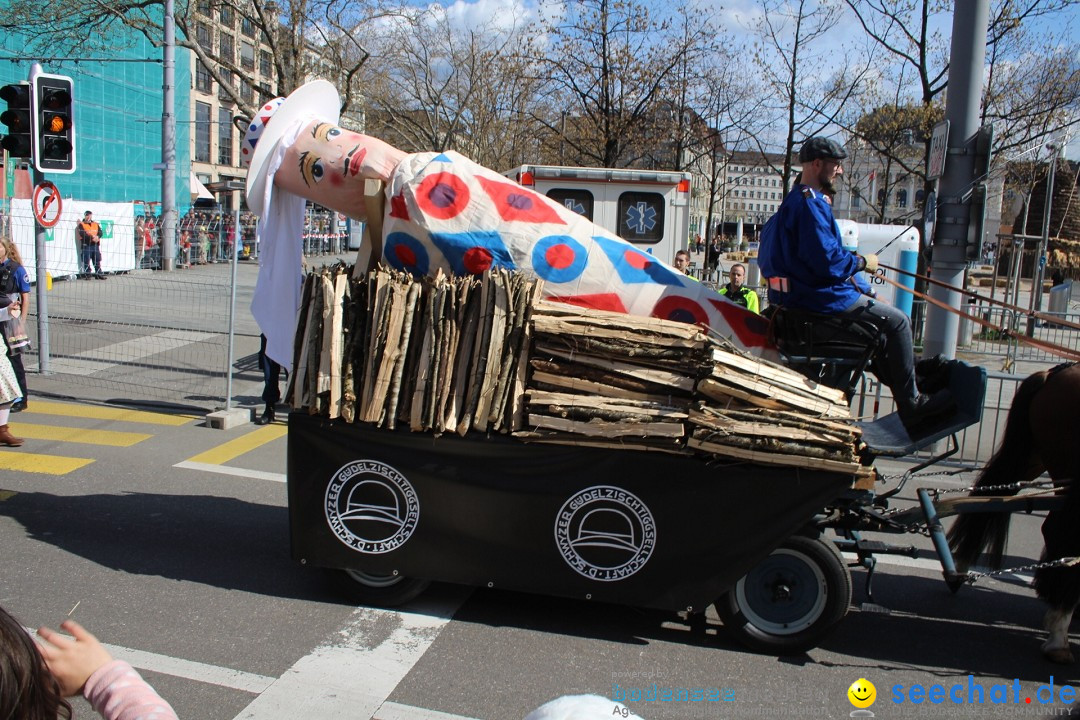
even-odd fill
[{"label": "parade wagon with black tarp, wheels and stacked firewood load", "polygon": [[[955,437],[981,411],[985,375],[963,366],[953,384],[972,388],[964,412],[913,439],[894,416],[845,421],[842,391],[693,326],[619,316],[612,328],[611,315],[544,302],[514,321],[482,300],[476,317],[504,328],[502,342],[485,322],[440,323],[435,300],[394,310],[407,289],[375,285],[428,283],[406,276],[373,275],[353,303],[366,310],[338,322],[319,303],[346,273],[329,275],[309,280],[316,301],[297,347],[318,352],[300,353],[289,391],[303,407],[289,416],[292,548],[363,603],[449,582],[688,613],[715,604],[752,648],[804,650],[851,601],[839,548],[872,561],[852,518],[875,512],[875,453]],[[507,302],[492,307],[515,304],[504,280]],[[470,350],[441,354],[451,347]],[[338,357],[356,363],[333,367]],[[315,368],[343,378],[340,390]],[[575,388],[585,392],[561,392]]]}]

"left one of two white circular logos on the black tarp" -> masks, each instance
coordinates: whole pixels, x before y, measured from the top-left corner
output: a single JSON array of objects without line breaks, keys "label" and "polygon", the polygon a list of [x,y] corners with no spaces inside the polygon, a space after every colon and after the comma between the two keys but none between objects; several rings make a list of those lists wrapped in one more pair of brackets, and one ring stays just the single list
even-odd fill
[{"label": "left one of two white circular logos on the black tarp", "polygon": [[338,540],[368,555],[404,545],[420,519],[413,485],[376,460],[356,460],[336,472],[326,487],[324,507]]}]

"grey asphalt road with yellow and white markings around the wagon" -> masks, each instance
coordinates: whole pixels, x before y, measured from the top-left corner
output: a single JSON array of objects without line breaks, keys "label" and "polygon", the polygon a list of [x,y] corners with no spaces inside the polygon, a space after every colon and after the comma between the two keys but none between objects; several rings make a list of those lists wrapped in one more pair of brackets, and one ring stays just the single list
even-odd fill
[{"label": "grey asphalt road with yellow and white markings around the wagon", "polygon": [[[505,720],[562,694],[648,696],[652,683],[730,699],[629,703],[650,720],[846,717],[859,678],[878,689],[876,717],[981,717],[978,705],[914,705],[908,690],[960,683],[967,698],[969,682],[989,693],[1018,680],[1021,704],[990,709],[1020,717],[1051,676],[1057,689],[1080,683],[1041,660],[1043,609],[1029,588],[982,581],[954,596],[920,535],[886,538],[922,548],[882,560],[875,599],[890,612],[859,607],[856,569],[848,616],[795,657],[743,650],[712,614],[449,585],[403,611],[356,608],[289,557],[284,424],[218,431],[198,417],[40,399],[13,418],[28,439],[0,452],[26,461],[0,470],[0,603],[30,627],[76,617],[187,720]],[[50,457],[91,462],[49,475]],[[1038,521],[1017,518],[1011,562],[1037,556]]]}]

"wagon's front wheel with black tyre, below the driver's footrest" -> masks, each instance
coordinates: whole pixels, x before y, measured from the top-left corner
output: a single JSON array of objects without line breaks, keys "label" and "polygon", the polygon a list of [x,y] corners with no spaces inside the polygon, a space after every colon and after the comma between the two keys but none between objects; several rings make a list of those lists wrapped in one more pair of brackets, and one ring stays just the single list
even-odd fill
[{"label": "wagon's front wheel with black tyre, below the driver's footrest", "polygon": [[848,612],[851,573],[822,538],[792,535],[716,601],[741,643],[771,654],[812,648]]}]

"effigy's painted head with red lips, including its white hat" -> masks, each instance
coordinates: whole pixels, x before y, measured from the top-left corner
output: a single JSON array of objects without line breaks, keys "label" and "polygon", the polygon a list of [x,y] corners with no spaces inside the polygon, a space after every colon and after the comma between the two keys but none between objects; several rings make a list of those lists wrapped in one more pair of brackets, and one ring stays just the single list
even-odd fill
[{"label": "effigy's painted head with red lips, including its white hat", "polygon": [[389,178],[405,153],[341,127],[340,105],[334,85],[316,80],[260,108],[247,123],[241,150],[249,163],[248,207],[266,214],[272,176],[273,188],[366,219],[365,180]]}]

